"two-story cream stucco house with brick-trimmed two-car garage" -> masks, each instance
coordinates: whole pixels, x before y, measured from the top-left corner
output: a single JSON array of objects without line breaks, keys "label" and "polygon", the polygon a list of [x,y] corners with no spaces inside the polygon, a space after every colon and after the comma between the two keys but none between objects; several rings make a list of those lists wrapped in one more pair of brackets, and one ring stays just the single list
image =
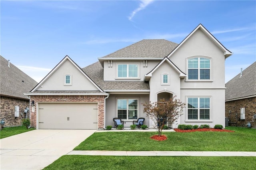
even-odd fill
[{"label": "two-story cream stucco house with brick-trimmed two-car garage", "polygon": [[[199,24],[180,44],[142,40],[83,69],[66,56],[26,94],[34,103],[31,125],[103,129],[119,117],[130,127],[146,118],[143,103],[176,96],[186,103],[178,124],[224,126],[224,67],[230,55]],[[148,118],[144,124],[156,126]]]}]

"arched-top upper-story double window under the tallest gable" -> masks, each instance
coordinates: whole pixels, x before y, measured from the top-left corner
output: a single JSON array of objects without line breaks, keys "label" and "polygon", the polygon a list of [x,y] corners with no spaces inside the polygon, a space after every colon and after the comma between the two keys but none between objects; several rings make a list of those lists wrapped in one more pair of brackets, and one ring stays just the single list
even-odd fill
[{"label": "arched-top upper-story double window under the tallest gable", "polygon": [[196,57],[188,59],[189,80],[210,80],[210,59]]}]

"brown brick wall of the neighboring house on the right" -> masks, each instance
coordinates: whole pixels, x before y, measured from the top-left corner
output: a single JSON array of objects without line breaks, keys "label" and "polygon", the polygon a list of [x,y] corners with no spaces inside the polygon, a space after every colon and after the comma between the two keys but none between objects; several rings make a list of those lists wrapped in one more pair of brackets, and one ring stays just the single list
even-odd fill
[{"label": "brown brick wall of the neighboring house on the right", "polygon": [[[240,119],[240,108],[242,107],[245,108],[245,120]],[[225,116],[229,119],[229,126],[246,127],[246,124],[250,122],[251,127],[256,127],[256,120],[252,122],[254,114],[256,114],[256,97],[226,102]]]}]

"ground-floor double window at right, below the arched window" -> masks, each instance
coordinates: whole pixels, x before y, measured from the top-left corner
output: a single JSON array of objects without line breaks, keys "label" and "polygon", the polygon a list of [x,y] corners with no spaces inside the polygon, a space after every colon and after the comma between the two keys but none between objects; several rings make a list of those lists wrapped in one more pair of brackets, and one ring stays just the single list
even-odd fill
[{"label": "ground-floor double window at right, below the arched window", "polygon": [[210,97],[188,97],[188,120],[210,120]]}]

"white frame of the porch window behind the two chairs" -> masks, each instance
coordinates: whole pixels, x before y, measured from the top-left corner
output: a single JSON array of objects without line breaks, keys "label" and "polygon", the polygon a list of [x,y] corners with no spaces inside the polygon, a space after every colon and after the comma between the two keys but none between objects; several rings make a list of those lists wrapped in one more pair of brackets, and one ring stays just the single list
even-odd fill
[{"label": "white frame of the porch window behind the two chairs", "polygon": [[[118,97],[116,98],[116,117],[118,117],[118,100],[126,100],[126,119],[122,119],[122,121],[134,121],[137,120],[140,117],[140,98],[138,97]],[[130,109],[130,110],[137,110],[137,119],[129,119],[129,103],[128,100],[137,100],[138,101],[138,106],[137,109]],[[123,110],[123,109],[120,109]]]}]

